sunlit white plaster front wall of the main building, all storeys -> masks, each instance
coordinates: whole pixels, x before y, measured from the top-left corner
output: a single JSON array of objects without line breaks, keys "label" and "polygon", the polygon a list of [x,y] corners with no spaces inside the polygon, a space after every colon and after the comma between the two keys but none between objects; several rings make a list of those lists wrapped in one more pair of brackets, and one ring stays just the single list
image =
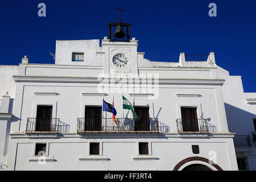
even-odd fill
[{"label": "sunlit white plaster front wall of the main building, all storeys", "polygon": [[[132,45],[131,45],[132,44]],[[56,64],[21,64],[19,75],[16,77],[16,98],[11,119],[11,139],[9,140],[7,164],[10,170],[57,170],[57,169],[112,169],[112,170],[172,170],[184,158],[195,156],[191,152],[191,144],[199,144],[200,156],[209,158],[209,151],[216,151],[217,164],[224,170],[236,170],[236,159],[233,146],[233,134],[229,133],[224,102],[221,90],[221,81],[211,84],[212,78],[217,78],[217,69],[209,68],[209,63],[200,62],[183,63],[193,68],[171,68],[177,63],[152,63],[145,62],[142,53],[137,53],[137,40],[129,43],[109,43],[107,39],[99,47],[99,40],[71,40],[56,42]],[[109,57],[114,54],[113,47],[132,46],[130,58],[131,72],[159,73],[160,78],[177,78],[176,83],[162,82],[159,84],[157,97],[150,100],[147,96],[136,96],[135,105],[149,106],[150,117],[158,117],[160,129],[164,134],[101,134],[80,136],[77,131],[77,118],[84,117],[85,105],[102,105],[102,95],[83,96],[82,93],[98,93],[97,82],[58,80],[62,77],[82,78],[96,77],[104,70],[109,73]],[[110,48],[111,47],[111,48]],[[102,50],[104,52],[102,52]],[[128,51],[128,49],[126,50]],[[84,52],[83,62],[72,62],[72,52]],[[115,51],[117,52],[117,51]],[[140,63],[140,61],[144,63]],[[143,65],[144,64],[144,65]],[[178,63],[179,64],[179,63]],[[141,66],[139,66],[141,65]],[[156,68],[155,66],[159,66]],[[162,68],[166,67],[166,68]],[[151,68],[147,68],[151,67]],[[161,68],[160,68],[161,67]],[[30,77],[31,78],[28,78]],[[45,76],[52,80],[46,81]],[[185,78],[197,79],[189,84]],[[19,80],[21,79],[21,80]],[[24,79],[24,80],[22,80]],[[26,80],[28,79],[28,80]],[[180,80],[179,80],[180,79]],[[192,80],[195,81],[195,80]],[[36,92],[53,92],[53,95],[37,95]],[[121,93],[107,93],[105,101],[112,103],[117,109],[117,118],[123,115],[131,118],[131,113],[122,109]],[[177,97],[177,94],[194,94],[200,97]],[[133,102],[133,95],[123,93]],[[63,127],[59,135],[34,134],[26,135],[27,118],[36,117],[37,105],[53,105],[53,118],[60,118]],[[212,134],[177,134],[176,119],[181,118],[181,106],[197,107],[197,117],[204,113],[209,123],[216,126],[216,133]],[[105,115],[105,113],[104,113]],[[112,114],[107,113],[111,118]],[[167,130],[166,130],[167,129]],[[16,133],[16,134],[15,134]],[[16,136],[16,137],[15,137]],[[125,136],[125,137],[124,137]],[[133,160],[138,155],[138,142],[150,142],[150,154],[156,155],[158,160]],[[47,155],[53,156],[55,162],[47,162],[45,166],[36,162],[28,162],[34,154],[35,143],[47,143]],[[81,155],[88,155],[88,142],[101,142],[101,154],[108,156],[108,161],[80,161]],[[185,150],[184,150],[185,149]],[[72,155],[71,155],[72,154]],[[118,155],[119,154],[119,155]],[[68,164],[68,165],[67,165]],[[123,165],[127,164],[127,165]],[[122,168],[120,167],[122,166]]]}]

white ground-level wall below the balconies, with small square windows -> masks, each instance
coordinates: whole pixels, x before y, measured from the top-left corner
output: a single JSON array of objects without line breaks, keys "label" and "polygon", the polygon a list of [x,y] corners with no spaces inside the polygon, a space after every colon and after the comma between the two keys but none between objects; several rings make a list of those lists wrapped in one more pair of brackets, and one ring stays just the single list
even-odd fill
[{"label": "white ground-level wall below the balconies, with small square windows", "polygon": [[[130,137],[129,137],[130,136]],[[224,170],[236,170],[236,166],[230,162],[232,153],[228,152],[232,147],[232,139],[226,138],[152,138],[149,135],[143,137],[112,135],[111,138],[61,138],[61,139],[11,139],[17,143],[17,155],[9,159],[9,170],[165,170],[172,171],[181,160],[200,156],[209,159],[215,152],[214,161]],[[22,141],[22,143],[20,143]],[[29,162],[34,155],[35,143],[47,143],[47,156],[53,156],[55,162],[46,162],[40,165],[37,161]],[[80,156],[88,155],[89,142],[100,142],[101,152],[107,161],[79,160]],[[149,152],[156,159],[134,160],[138,155],[138,142],[149,142]],[[191,145],[198,144],[200,154],[193,154]],[[15,145],[16,146],[16,145]],[[15,148],[11,148],[10,154]],[[12,161],[14,160],[14,161]],[[212,159],[213,160],[213,159]],[[197,162],[199,163],[199,162]],[[212,168],[214,169],[214,168]],[[216,169],[215,169],[216,170]]]}]

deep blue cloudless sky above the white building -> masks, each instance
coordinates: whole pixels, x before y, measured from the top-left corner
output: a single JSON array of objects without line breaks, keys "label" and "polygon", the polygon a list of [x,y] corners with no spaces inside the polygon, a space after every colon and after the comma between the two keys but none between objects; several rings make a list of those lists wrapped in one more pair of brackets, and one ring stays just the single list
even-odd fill
[{"label": "deep blue cloudless sky above the white building", "polygon": [[[38,4],[46,4],[46,17]],[[216,3],[217,17],[208,15]],[[180,52],[214,52],[216,63],[230,75],[241,75],[245,92],[256,92],[256,1],[7,1],[0,3],[0,64],[54,64],[49,51],[55,40],[103,39],[120,6],[138,51],[151,61],[178,61]]]}]

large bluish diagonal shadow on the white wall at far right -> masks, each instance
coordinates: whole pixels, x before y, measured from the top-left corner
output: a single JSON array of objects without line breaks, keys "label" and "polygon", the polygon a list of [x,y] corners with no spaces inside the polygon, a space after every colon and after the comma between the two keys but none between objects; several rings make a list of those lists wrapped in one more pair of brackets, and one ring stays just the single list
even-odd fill
[{"label": "large bluish diagonal shadow on the white wall at far right", "polygon": [[250,135],[254,131],[253,118],[256,118],[256,114],[230,104],[224,103],[224,105],[229,131],[241,135]]}]

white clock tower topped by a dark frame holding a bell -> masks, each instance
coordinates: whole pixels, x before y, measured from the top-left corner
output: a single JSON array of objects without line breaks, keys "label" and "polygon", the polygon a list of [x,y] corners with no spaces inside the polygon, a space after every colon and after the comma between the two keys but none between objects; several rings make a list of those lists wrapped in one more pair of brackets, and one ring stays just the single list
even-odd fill
[{"label": "white clock tower topped by a dark frame holding a bell", "polygon": [[[129,75],[138,73],[138,40],[130,39],[130,23],[108,23],[109,39],[102,40],[104,73]],[[116,28],[113,33],[113,27]],[[126,32],[123,28],[126,27]]]}]

